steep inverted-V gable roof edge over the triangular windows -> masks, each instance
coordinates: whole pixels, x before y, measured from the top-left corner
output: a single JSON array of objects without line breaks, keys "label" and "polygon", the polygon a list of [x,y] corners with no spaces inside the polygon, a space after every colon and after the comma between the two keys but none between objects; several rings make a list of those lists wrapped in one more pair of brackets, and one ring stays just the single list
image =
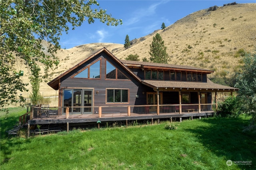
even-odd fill
[{"label": "steep inverted-V gable roof edge over the triangular windows", "polygon": [[95,57],[96,55],[98,55],[101,52],[105,52],[106,54],[108,54],[110,57],[112,57],[112,59],[114,59],[119,65],[121,65],[128,73],[130,73],[137,81],[141,82],[141,79],[135,75],[128,67],[126,67],[118,58],[116,58],[112,53],[110,53],[110,51],[108,51],[105,47],[103,47],[102,49],[100,49],[98,52],[94,53],[93,55],[91,55],[90,57],[84,59],[83,61],[81,61],[80,63],[78,63],[77,65],[75,65],[74,67],[68,69],[67,71],[65,71],[64,73],[62,73],[61,75],[59,75],[58,77],[56,77],[55,79],[53,79],[52,81],[50,81],[49,83],[47,83],[50,87],[52,87],[54,90],[58,90],[59,89],[59,82],[60,79],[62,77],[64,77],[65,75],[67,75],[68,73],[70,73],[71,71],[73,71],[74,69],[76,69],[77,67],[79,67],[80,65],[84,64],[86,61],[88,61],[89,59],[92,59],[93,57]]}]

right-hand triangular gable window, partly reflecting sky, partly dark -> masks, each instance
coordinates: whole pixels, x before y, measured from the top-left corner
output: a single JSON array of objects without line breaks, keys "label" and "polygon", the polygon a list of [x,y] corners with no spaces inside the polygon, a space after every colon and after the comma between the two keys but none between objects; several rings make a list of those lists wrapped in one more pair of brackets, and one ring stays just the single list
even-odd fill
[{"label": "right-hand triangular gable window, partly reflecting sky, partly dark", "polygon": [[120,70],[118,70],[109,61],[106,61],[106,78],[107,79],[128,79]]}]

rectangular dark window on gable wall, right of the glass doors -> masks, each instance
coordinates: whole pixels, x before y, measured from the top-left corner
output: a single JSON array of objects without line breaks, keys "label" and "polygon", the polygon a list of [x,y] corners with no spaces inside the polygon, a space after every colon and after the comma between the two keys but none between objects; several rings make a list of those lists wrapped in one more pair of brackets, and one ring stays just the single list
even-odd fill
[{"label": "rectangular dark window on gable wall, right of the glass doors", "polygon": [[128,89],[107,89],[107,103],[128,103]]}]

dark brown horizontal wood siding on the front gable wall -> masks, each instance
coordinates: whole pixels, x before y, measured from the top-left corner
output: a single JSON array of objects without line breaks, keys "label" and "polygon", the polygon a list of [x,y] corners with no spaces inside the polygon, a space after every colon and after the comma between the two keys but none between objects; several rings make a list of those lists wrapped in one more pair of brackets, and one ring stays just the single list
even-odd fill
[{"label": "dark brown horizontal wood siding on the front gable wall", "polygon": [[[87,67],[90,65],[90,63],[93,63],[98,59],[101,59],[100,79],[71,78],[84,67]],[[118,70],[124,73],[129,80],[106,79],[106,59]],[[130,75],[130,73],[128,73],[121,65],[116,63],[116,61],[114,61],[106,53],[100,53],[98,56],[93,57],[88,62],[62,77],[60,84],[60,90],[67,88],[94,89],[94,106],[120,105],[120,103],[106,103],[106,89],[129,89],[129,101],[128,103],[122,103],[122,105],[144,105],[146,103],[146,95],[142,95],[144,87],[144,85],[138,82],[132,75]],[[98,91],[98,94],[96,94],[96,91]],[[139,97],[136,98],[136,95]]]}]

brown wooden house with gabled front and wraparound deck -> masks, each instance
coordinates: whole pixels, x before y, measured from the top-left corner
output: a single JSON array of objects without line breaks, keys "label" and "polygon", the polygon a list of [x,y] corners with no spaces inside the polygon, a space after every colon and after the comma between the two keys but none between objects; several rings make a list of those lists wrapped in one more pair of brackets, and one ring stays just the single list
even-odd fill
[{"label": "brown wooden house with gabled front and wraparound deck", "polygon": [[207,75],[213,72],[191,66],[119,60],[102,48],[48,83],[59,90],[58,107],[49,109],[45,117],[34,110],[29,123],[213,113],[218,107],[218,92],[238,90],[210,81]]}]

